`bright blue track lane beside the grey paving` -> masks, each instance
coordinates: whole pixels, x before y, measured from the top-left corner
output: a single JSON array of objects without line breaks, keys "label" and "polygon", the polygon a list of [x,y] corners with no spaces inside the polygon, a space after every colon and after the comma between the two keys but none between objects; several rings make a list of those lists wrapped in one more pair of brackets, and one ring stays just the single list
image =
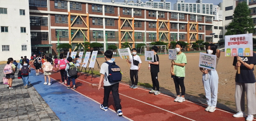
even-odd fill
[{"label": "bright blue track lane beside the grey paving", "polygon": [[29,82],[61,121],[128,121],[111,110],[101,110],[98,103],[53,79],[51,86],[44,85],[44,75],[36,76],[35,70],[31,69]]}]

